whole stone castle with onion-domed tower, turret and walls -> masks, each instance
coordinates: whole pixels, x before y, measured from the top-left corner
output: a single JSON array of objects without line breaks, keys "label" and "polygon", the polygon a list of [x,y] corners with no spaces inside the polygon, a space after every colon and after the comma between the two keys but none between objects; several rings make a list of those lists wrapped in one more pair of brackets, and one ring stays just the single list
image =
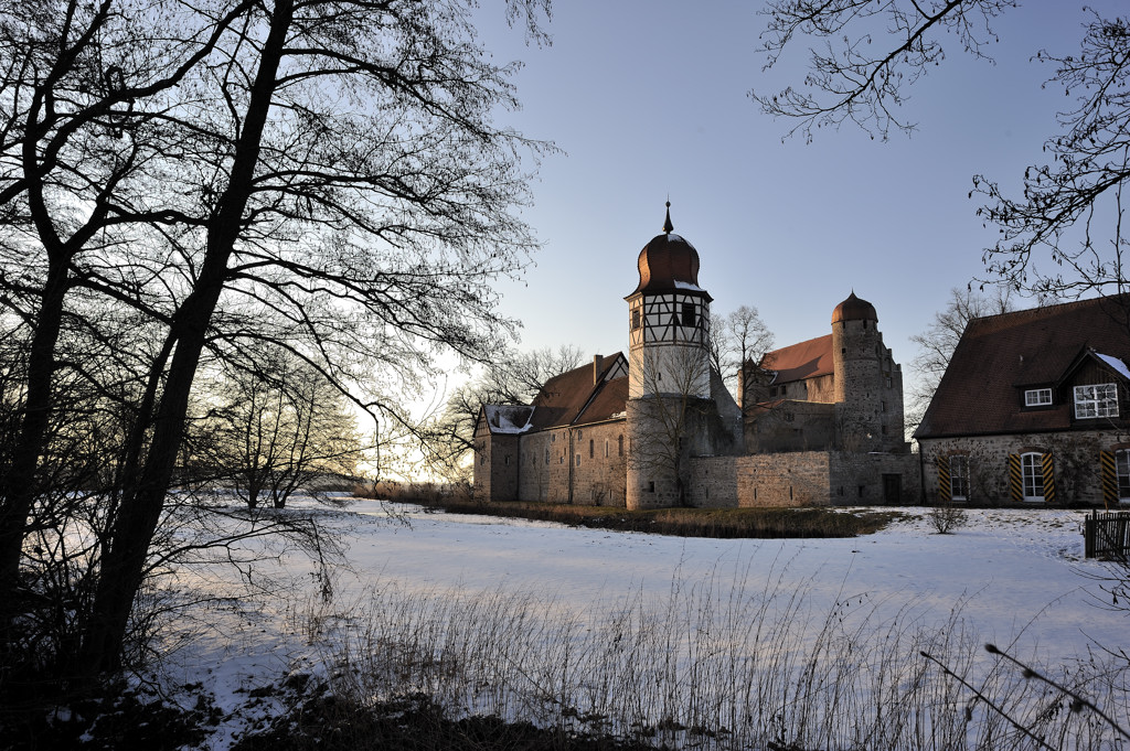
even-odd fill
[{"label": "whole stone castle with onion-domed tower, turret and walls", "polygon": [[902,369],[852,292],[828,334],[746,363],[736,400],[711,367],[698,252],[663,233],[640,252],[628,357],[547,381],[530,404],[484,405],[475,491],[487,500],[627,508],[914,503]]}]

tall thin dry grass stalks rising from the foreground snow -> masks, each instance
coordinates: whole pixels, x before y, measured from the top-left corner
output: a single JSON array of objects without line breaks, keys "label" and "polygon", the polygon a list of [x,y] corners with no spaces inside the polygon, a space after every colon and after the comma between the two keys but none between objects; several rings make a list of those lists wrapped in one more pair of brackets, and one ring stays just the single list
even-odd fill
[{"label": "tall thin dry grass stalks rising from the foreground snow", "polygon": [[[1071,711],[1063,691],[985,655],[959,606],[932,626],[913,603],[892,612],[853,596],[822,611],[781,580],[713,577],[584,612],[504,590],[384,585],[319,625],[333,696],[354,710],[426,697],[445,721],[495,718],[549,743],[513,748],[1032,748],[990,702],[1050,748],[1114,748],[1112,728]],[[1127,718],[1124,660],[1037,667]]]}]

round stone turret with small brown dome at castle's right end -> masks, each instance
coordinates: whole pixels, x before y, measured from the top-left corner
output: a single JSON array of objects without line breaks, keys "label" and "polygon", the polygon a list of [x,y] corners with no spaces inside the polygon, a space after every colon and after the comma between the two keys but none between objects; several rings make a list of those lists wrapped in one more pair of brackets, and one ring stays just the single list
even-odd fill
[{"label": "round stone turret with small brown dome at castle's right end", "polygon": [[902,373],[883,343],[875,306],[854,291],[832,312],[832,359],[841,447],[902,447]]}]

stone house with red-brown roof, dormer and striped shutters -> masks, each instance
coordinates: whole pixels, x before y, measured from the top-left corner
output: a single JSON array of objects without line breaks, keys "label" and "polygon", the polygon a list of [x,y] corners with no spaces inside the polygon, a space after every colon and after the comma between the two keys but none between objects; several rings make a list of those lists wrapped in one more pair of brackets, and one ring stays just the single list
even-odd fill
[{"label": "stone house with red-brown roof, dormer and striped shutters", "polygon": [[1130,296],[971,321],[914,437],[927,498],[1130,503]]}]

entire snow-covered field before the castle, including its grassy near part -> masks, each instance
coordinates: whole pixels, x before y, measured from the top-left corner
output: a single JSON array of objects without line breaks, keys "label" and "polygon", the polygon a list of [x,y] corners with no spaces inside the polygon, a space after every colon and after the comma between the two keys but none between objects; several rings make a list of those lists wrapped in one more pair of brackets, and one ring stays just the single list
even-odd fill
[{"label": "entire snow-covered field before the castle, including its grassy near part", "polygon": [[[734,724],[734,707],[751,704],[781,704],[757,709],[756,722],[768,723],[791,717],[800,704],[823,717],[832,710],[866,714],[879,691],[893,690],[901,701],[898,692],[921,690],[910,685],[904,663],[923,648],[996,690],[996,681],[1011,679],[1001,678],[1007,671],[993,667],[983,643],[1051,672],[1068,666],[1072,674],[1077,661],[1101,655],[1096,645],[1127,646],[1127,612],[1110,609],[1111,595],[1102,588],[1112,569],[1083,559],[1080,512],[972,509],[966,526],[939,535],[923,509],[907,508],[906,519],[868,536],[739,541],[398,510],[407,523],[390,521],[374,501],[316,512],[348,565],[333,577],[332,601],[318,599],[308,564],[288,556],[282,568],[296,584],[285,596],[210,605],[202,620],[185,627],[207,638],[171,655],[166,680],[201,682],[234,713],[211,748],[226,748],[232,733],[253,719],[246,691],[288,672],[316,673],[342,655],[362,672],[399,671],[370,653],[393,652],[389,645],[401,638],[433,656],[450,656],[458,641],[462,662],[458,671],[447,670],[459,672],[458,685],[426,671],[398,673],[394,683],[388,675],[383,683],[362,675],[358,685],[371,692],[427,688],[471,711],[537,714],[534,700],[515,698],[522,693],[518,681],[503,675],[513,669],[529,681],[531,695],[553,695],[555,706],[562,695],[581,692],[571,696],[579,710],[637,713],[623,721],[645,722],[649,713],[681,713],[688,701],[702,701],[713,708],[696,709],[696,716],[729,716]],[[259,564],[251,578],[277,574]],[[223,592],[225,585],[199,586]],[[511,632],[484,634],[497,630]],[[545,654],[534,656],[540,649]],[[862,662],[829,667],[808,693],[798,688],[807,664],[842,662],[854,653]],[[472,658],[493,663],[492,676],[462,666]],[[667,662],[672,664],[657,665]],[[779,683],[763,687],[756,699],[748,685],[740,701],[720,696],[740,692],[755,663],[767,665],[757,670],[771,670]],[[593,678],[606,664],[609,674]],[[625,701],[624,693],[637,693],[652,680],[670,685]],[[486,685],[493,681],[507,688]],[[829,698],[833,684],[840,688]],[[941,693],[931,690],[937,706],[928,725],[941,723],[941,705],[967,698],[953,681]],[[271,710],[269,702],[259,709]],[[971,742],[985,733],[965,732]],[[782,737],[791,736],[783,731]]]}]

